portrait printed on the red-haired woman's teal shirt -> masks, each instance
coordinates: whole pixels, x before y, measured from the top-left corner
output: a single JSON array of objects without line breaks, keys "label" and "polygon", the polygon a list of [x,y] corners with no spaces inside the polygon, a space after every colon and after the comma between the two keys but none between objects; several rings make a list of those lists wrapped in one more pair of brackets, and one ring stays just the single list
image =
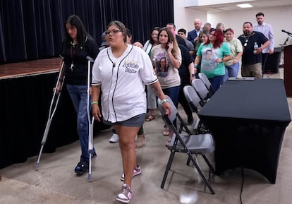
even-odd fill
[{"label": "portrait printed on the red-haired woman's teal shirt", "polygon": [[202,64],[201,68],[205,71],[212,71],[217,63],[215,60],[218,58],[218,49],[205,48],[202,49]]}]

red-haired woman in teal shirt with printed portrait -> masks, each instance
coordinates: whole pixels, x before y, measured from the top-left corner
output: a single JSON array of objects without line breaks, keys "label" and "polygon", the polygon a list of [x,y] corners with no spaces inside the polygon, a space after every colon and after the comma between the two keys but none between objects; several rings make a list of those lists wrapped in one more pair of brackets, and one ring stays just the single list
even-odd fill
[{"label": "red-haired woman in teal shirt with printed portrait", "polygon": [[231,51],[220,29],[211,30],[207,42],[197,50],[195,68],[201,64],[201,72],[209,78],[214,90],[218,90],[225,75],[224,61],[232,59]]}]

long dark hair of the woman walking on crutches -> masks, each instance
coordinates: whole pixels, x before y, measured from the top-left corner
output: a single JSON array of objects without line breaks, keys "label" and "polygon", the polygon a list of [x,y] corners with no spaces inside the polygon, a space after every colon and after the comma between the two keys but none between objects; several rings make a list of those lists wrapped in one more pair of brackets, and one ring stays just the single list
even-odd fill
[{"label": "long dark hair of the woman walking on crutches", "polygon": [[70,37],[70,35],[68,34],[68,32],[66,30],[67,23],[70,23],[74,28],[76,28],[78,44],[80,47],[84,47],[84,44],[85,44],[87,37],[88,37],[88,33],[85,30],[81,19],[76,15],[71,15],[67,18],[67,20],[64,23],[66,44],[71,44],[73,39]]}]

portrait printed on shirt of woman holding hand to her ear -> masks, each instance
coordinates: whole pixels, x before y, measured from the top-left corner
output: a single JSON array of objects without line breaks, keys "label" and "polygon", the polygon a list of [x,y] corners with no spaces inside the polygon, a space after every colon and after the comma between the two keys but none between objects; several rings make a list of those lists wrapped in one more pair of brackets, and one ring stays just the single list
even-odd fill
[{"label": "portrait printed on shirt of woman holding hand to her ear", "polygon": [[154,68],[157,72],[157,76],[166,77],[169,73],[169,58],[165,53],[157,54],[154,59]]}]

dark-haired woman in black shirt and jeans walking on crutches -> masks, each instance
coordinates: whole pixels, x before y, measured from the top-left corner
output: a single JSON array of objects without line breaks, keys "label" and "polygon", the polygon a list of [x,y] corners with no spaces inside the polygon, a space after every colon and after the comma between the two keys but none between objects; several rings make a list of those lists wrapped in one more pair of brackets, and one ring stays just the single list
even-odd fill
[{"label": "dark-haired woman in black shirt and jeans walking on crutches", "polygon": [[[81,146],[80,162],[74,171],[78,175],[88,172],[88,134],[89,121],[87,118],[87,56],[92,59],[99,53],[98,45],[85,30],[78,16],[69,16],[64,23],[65,38],[61,56],[64,61],[65,84],[77,113],[77,131]],[[57,89],[61,88],[61,81]],[[89,91],[89,90],[88,90]],[[90,109],[91,110],[91,109]],[[96,157],[96,153],[92,153]]]}]

